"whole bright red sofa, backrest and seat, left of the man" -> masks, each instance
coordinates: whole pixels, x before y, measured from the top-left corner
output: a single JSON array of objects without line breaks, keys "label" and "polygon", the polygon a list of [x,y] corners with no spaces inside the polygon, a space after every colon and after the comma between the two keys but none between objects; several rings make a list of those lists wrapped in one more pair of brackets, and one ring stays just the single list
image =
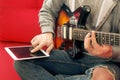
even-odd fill
[{"label": "whole bright red sofa, backrest and seat, left of the man", "polygon": [[29,45],[40,34],[38,12],[43,0],[0,0],[0,80],[21,80],[4,47]]}]

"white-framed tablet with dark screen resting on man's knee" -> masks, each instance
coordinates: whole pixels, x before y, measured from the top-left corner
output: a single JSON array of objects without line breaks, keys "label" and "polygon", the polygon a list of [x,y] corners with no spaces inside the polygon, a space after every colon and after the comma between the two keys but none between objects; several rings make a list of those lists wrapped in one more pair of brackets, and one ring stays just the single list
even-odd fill
[{"label": "white-framed tablet with dark screen resting on man's knee", "polygon": [[30,48],[32,47],[31,46],[11,46],[11,47],[5,47],[5,50],[14,60],[26,60],[26,59],[49,57],[49,55],[42,49],[35,53],[31,53]]}]

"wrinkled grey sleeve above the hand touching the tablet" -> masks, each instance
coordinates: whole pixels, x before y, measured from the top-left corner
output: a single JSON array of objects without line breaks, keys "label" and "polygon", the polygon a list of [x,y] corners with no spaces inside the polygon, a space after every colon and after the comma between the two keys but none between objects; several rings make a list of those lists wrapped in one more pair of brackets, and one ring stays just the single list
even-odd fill
[{"label": "wrinkled grey sleeve above the hand touching the tablet", "polygon": [[44,0],[38,15],[42,33],[54,33],[56,18],[64,1],[65,0]]}]

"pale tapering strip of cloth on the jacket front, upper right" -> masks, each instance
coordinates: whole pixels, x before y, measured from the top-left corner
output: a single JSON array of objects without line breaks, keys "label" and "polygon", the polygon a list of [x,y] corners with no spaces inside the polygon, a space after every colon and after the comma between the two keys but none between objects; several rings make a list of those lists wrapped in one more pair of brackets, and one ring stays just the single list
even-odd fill
[{"label": "pale tapering strip of cloth on the jacket front, upper right", "polygon": [[115,5],[116,5],[116,2],[114,0],[103,0],[100,13],[97,19],[97,23],[96,23],[96,30],[98,30],[102,26],[102,24],[106,21],[106,19],[110,15]]}]

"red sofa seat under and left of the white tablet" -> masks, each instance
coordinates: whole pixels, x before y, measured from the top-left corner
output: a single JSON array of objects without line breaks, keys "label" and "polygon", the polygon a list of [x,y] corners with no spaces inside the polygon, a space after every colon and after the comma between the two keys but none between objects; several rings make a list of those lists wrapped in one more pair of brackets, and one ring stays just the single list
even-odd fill
[{"label": "red sofa seat under and left of the white tablet", "polygon": [[30,45],[29,43],[0,42],[0,80],[21,80],[14,69],[14,60],[5,51],[7,46]]}]

